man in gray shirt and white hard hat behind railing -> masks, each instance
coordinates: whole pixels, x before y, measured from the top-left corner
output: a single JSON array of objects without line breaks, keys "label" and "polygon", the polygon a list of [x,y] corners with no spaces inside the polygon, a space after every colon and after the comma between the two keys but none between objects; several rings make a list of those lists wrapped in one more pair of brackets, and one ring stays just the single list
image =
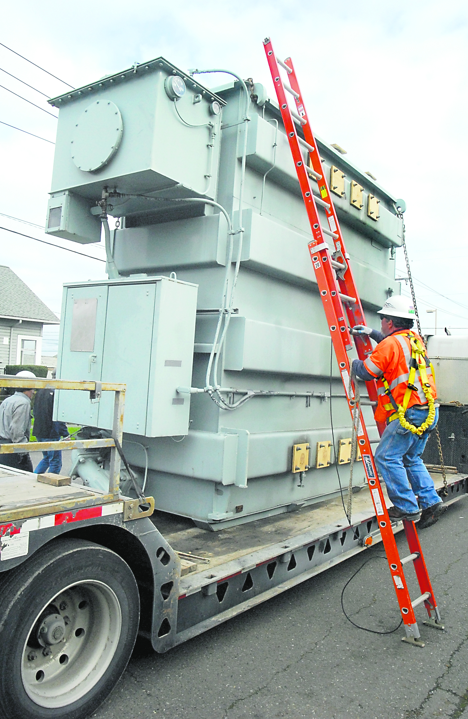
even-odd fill
[{"label": "man in gray shirt and white hard hat behind railing", "polygon": [[[36,379],[28,370],[17,373],[17,377]],[[22,444],[29,442],[31,433],[31,399],[35,390],[18,389],[0,405],[0,444]],[[17,470],[32,472],[29,452],[22,454],[0,454],[0,464]]]}]

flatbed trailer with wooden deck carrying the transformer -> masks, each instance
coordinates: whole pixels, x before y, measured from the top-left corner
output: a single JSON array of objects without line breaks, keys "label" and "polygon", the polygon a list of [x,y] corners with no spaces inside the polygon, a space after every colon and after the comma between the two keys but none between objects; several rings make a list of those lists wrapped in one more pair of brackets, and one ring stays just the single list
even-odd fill
[{"label": "flatbed trailer with wooden deck carrying the transformer", "polygon": [[[0,464],[1,715],[84,718],[121,677],[137,634],[168,651],[381,541],[367,485],[351,524],[338,496],[209,532],[152,513],[151,498],[142,507],[114,480],[99,493]],[[447,490],[445,503],[461,499],[468,475],[448,475]]]}]

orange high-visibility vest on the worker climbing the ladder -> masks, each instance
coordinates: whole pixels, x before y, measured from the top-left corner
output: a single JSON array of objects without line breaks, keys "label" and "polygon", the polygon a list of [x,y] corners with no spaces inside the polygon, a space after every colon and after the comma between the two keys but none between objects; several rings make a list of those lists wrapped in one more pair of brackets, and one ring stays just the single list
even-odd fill
[{"label": "orange high-visibility vest on the worker climbing the ladder", "polygon": [[[377,380],[377,395],[378,404],[375,411],[375,421],[385,421],[390,415],[395,413],[395,408],[390,402],[390,398],[385,393],[385,386],[382,379],[385,377],[388,385],[390,386],[393,399],[398,405],[403,404],[403,398],[405,396],[406,388],[408,387],[408,379],[410,376],[410,359],[411,359],[411,346],[408,335],[412,335],[423,340],[421,337],[410,329],[401,329],[394,334],[382,339],[382,342],[377,344],[374,352],[367,357],[364,361],[364,367],[367,372],[375,377]],[[431,385],[431,395],[436,400],[436,384],[432,375],[432,370],[429,365],[426,356],[426,374],[428,377],[428,383]],[[427,405],[428,400],[426,395],[423,393],[421,385],[421,376],[419,372],[416,373],[415,386],[417,390],[413,390],[408,402],[408,408],[414,405]]]}]

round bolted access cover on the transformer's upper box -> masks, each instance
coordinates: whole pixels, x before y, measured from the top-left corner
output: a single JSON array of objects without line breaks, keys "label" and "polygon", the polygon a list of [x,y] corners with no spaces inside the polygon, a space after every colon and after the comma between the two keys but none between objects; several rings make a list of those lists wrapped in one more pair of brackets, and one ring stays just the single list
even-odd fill
[{"label": "round bolted access cover on the transformer's upper box", "polygon": [[78,170],[93,173],[109,162],[119,148],[124,124],[113,102],[97,100],[75,124],[71,158]]}]

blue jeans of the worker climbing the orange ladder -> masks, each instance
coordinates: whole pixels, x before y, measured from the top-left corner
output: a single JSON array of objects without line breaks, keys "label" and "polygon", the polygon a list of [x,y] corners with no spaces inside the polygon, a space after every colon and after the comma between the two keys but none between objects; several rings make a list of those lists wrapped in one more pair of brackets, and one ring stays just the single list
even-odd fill
[{"label": "blue jeans of the worker climbing the orange ladder", "polygon": [[[421,426],[427,416],[428,408],[413,406],[406,411],[408,421],[417,427]],[[377,469],[387,486],[390,500],[405,513],[415,514],[419,511],[415,495],[418,496],[421,509],[442,501],[421,459],[429,432],[434,429],[438,419],[439,408],[436,408],[436,418],[421,436],[403,429],[398,419],[395,419],[387,424],[380,437],[375,452]]]}]

